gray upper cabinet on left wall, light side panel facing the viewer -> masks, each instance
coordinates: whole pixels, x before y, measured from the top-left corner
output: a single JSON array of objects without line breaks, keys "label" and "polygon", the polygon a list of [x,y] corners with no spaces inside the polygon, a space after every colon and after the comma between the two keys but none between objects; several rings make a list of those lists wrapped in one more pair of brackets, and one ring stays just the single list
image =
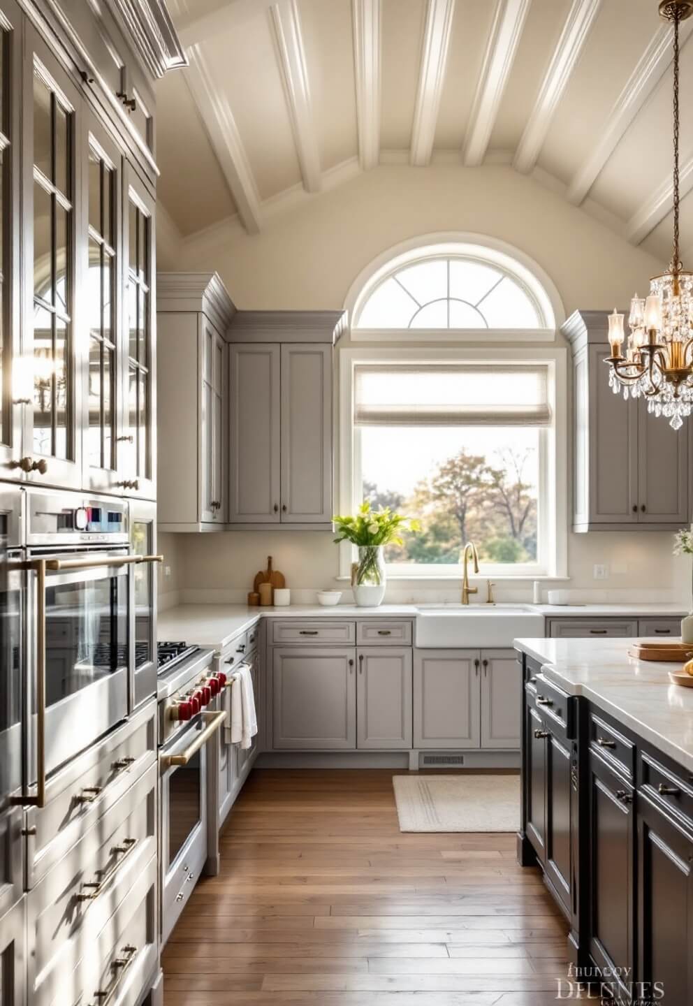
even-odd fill
[{"label": "gray upper cabinet on left wall, light side panel facing the viewer", "polygon": [[157,277],[159,528],[213,531],[227,514],[226,344],[234,312],[218,276]]}]

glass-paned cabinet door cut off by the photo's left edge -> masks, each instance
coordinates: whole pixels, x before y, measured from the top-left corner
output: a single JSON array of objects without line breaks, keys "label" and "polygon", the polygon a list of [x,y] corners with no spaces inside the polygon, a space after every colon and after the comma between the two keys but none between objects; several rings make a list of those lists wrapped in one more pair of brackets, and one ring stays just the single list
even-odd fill
[{"label": "glass-paned cabinet door cut off by the photo's left edge", "polygon": [[[30,409],[32,389],[26,375],[15,373],[21,359],[20,325],[20,98],[22,92],[22,15],[14,0],[0,0],[0,471],[3,479],[23,478],[21,457],[24,411]],[[19,368],[17,368],[19,369]]]}]

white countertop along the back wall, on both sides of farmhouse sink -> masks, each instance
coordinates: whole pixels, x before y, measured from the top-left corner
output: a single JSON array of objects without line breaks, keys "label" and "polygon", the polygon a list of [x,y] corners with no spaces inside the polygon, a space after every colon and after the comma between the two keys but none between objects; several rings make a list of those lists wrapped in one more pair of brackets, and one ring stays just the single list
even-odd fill
[{"label": "white countertop along the back wall, on both sides of farmhouse sink", "polygon": [[[509,602],[504,607],[517,607]],[[440,607],[453,605],[441,604]],[[470,606],[476,607],[476,606]],[[485,607],[481,605],[480,607]],[[524,605],[540,615],[562,618],[681,618],[681,607],[659,605]],[[239,633],[256,625],[261,618],[309,619],[392,619],[415,618],[416,605],[381,605],[379,608],[358,608],[356,605],[290,605],[282,608],[248,608],[246,605],[178,605],[159,613],[157,636],[161,641],[184,640],[197,646],[211,646],[217,651],[226,647]]]}]

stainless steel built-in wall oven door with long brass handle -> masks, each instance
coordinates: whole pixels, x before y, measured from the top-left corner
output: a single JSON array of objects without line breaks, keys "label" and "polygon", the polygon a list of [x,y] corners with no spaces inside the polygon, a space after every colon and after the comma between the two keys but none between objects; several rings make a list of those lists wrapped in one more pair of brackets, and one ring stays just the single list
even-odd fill
[{"label": "stainless steel built-in wall oven door with long brass handle", "polygon": [[[118,549],[29,556],[29,565],[43,566],[42,574],[28,577],[27,656],[36,672],[29,675],[30,785],[41,769],[45,775],[53,772],[127,715],[128,558]],[[37,686],[43,663],[42,701]],[[41,743],[39,767],[34,754],[41,754]]]}]

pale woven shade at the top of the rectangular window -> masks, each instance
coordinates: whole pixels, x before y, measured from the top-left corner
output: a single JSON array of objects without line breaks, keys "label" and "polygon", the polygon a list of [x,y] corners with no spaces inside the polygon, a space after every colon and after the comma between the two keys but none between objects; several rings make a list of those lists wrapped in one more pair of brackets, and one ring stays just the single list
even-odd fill
[{"label": "pale woven shade at the top of the rectangular window", "polygon": [[546,427],[548,367],[362,364],[354,422],[361,427]]}]

